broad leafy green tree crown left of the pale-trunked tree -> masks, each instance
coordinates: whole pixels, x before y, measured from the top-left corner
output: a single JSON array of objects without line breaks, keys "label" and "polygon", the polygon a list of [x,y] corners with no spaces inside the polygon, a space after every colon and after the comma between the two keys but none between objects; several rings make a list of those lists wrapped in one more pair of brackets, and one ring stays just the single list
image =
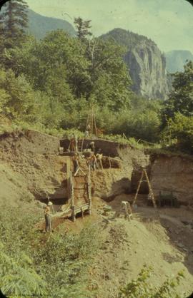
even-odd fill
[{"label": "broad leafy green tree crown left of the pale-trunked tree", "polygon": [[[65,31],[52,31],[39,42],[26,41],[21,49],[14,50],[13,55],[15,66],[20,66],[19,72],[24,73],[34,88],[46,91],[48,81],[53,76],[58,82],[68,83],[76,97],[84,93],[89,61],[84,57],[81,41],[71,38]],[[55,73],[59,72],[56,78]]]}]

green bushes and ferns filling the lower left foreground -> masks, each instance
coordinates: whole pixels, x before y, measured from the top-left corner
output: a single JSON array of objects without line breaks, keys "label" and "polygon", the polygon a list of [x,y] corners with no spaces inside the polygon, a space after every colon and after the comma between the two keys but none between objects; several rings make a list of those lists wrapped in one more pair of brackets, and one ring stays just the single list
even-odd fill
[{"label": "green bushes and ferns filling the lower left foreground", "polygon": [[90,297],[88,267],[101,242],[98,227],[79,234],[63,227],[50,236],[35,230],[38,220],[39,210],[30,205],[1,208],[1,291],[9,297]]}]

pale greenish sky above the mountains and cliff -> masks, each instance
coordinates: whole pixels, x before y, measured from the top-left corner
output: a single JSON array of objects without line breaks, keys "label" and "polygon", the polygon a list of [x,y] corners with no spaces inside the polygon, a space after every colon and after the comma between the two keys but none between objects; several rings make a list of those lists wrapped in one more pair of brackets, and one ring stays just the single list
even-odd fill
[{"label": "pale greenish sky above the mountains and cliff", "polygon": [[193,6],[185,0],[26,0],[43,16],[90,19],[94,36],[122,28],[151,38],[161,51],[193,53]]}]

